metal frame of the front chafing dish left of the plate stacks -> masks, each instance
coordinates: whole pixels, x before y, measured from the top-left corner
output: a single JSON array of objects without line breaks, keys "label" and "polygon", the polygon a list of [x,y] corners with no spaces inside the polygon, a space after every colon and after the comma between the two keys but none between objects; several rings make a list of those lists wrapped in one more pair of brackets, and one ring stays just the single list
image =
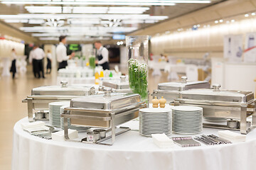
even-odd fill
[{"label": "metal frame of the front chafing dish left of the plate stacks", "polygon": [[[68,107],[64,108],[64,112],[60,116],[63,117],[63,119],[64,119],[65,140],[67,140],[67,141],[70,140],[68,137],[68,118],[70,118],[70,121],[71,121],[71,119],[110,121],[111,143],[110,144],[102,143],[103,141],[110,139],[110,137],[106,137],[98,142],[95,142],[94,144],[110,145],[111,146],[114,144],[116,135],[120,135],[120,134],[130,130],[129,128],[123,127],[123,130],[121,132],[116,133],[115,132],[116,118],[120,118],[124,115],[129,115],[131,111],[135,113],[135,112],[139,111],[140,108],[145,108],[145,107],[146,107],[146,103],[144,101],[140,101],[132,106],[127,106],[124,108],[117,108],[114,110],[101,110],[101,109],[92,109],[92,108],[68,108]],[[84,113],[90,112],[90,113],[95,113],[95,115],[93,115],[93,116],[91,116],[91,115],[71,115],[70,114],[71,111],[78,111],[78,112],[84,112]],[[100,115],[102,115],[102,113],[105,114],[106,116],[100,116]],[[92,126],[92,125],[90,125],[90,127],[98,128],[97,126]]]}]

